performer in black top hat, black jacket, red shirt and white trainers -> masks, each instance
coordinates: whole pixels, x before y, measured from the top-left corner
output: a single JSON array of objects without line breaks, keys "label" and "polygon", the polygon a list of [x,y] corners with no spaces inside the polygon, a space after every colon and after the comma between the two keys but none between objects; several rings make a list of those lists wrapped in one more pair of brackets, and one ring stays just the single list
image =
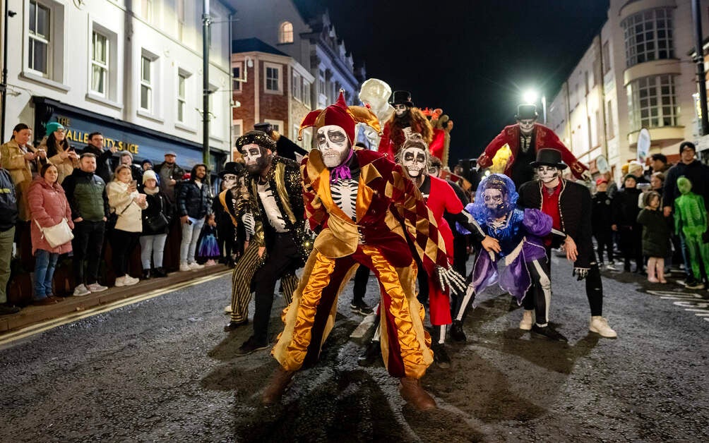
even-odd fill
[{"label": "performer in black top hat, black jacket, red shirt and white trainers", "polygon": [[[563,244],[566,259],[574,263],[572,275],[579,281],[586,280],[586,298],[591,306],[588,330],[601,337],[615,338],[618,335],[603,317],[601,270],[591,240],[591,192],[583,184],[561,178],[566,164],[559,150],[540,149],[531,166],[539,179],[520,187],[519,204],[523,208],[540,209],[552,218],[552,237],[544,242],[547,262],[551,260],[552,246]],[[532,329],[532,310],[526,305],[520,329]]]}]

